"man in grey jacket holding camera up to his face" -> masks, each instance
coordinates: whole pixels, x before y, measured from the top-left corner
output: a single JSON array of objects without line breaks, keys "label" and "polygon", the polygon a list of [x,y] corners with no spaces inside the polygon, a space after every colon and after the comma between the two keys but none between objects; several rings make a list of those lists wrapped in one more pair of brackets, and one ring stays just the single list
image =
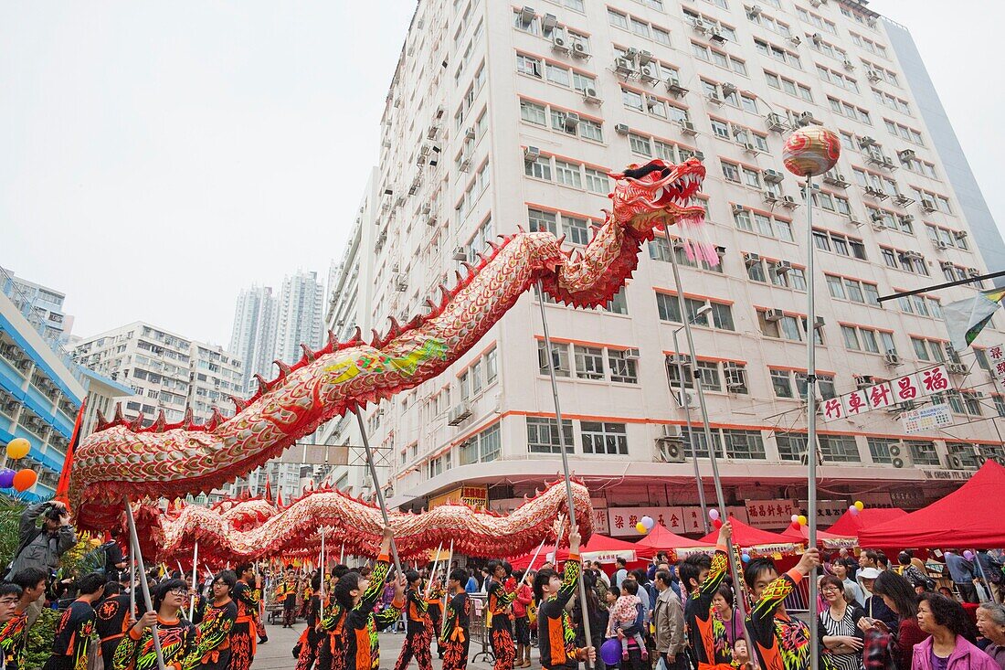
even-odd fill
[{"label": "man in grey jacket holding camera up to his face", "polygon": [[[38,517],[42,525],[38,527]],[[69,511],[57,502],[32,505],[21,514],[21,540],[8,574],[16,574],[25,567],[38,567],[45,574],[59,566],[59,557],[76,544],[76,533],[69,524]],[[45,604],[45,594],[39,596],[27,609],[27,628],[34,625]]]}]

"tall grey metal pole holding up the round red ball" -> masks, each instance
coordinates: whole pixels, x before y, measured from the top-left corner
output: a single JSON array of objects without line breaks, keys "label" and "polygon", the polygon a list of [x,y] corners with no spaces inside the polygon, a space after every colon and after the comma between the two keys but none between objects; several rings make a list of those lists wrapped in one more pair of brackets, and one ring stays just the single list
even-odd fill
[{"label": "tall grey metal pole holding up the round red ball", "polygon": [[[813,177],[806,175],[806,515],[809,518],[809,547],[816,548],[816,300],[814,288],[816,275],[813,270]],[[810,571],[809,611],[810,630],[817,622],[817,583]],[[819,640],[810,636],[810,668],[818,670]]]}]

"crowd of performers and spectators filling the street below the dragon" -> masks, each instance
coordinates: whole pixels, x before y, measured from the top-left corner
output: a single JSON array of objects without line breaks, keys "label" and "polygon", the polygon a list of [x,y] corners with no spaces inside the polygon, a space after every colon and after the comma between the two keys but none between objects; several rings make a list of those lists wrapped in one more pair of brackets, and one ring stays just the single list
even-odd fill
[{"label": "crowd of performers and spectators filling the street below the dragon", "polygon": [[[891,565],[882,552],[821,555],[811,548],[781,572],[770,558],[746,556],[736,584],[730,536],[726,523],[710,553],[675,562],[659,553],[634,569],[619,559],[610,572],[580,560],[580,538],[571,533],[561,566],[514,570],[493,559],[472,571],[416,565],[395,574],[386,531],[379,555],[357,567],[260,571],[245,562],[197,583],[154,570],[148,610],[114,542],[103,545],[103,568],[58,578],[60,556],[76,537],[65,508],[45,503],[25,512],[0,581],[0,670],[27,670],[28,631],[46,604],[61,614],[44,670],[153,669],[155,640],[177,670],[248,670],[268,641],[266,601],[281,612],[283,628],[306,620],[292,649],[296,670],[379,670],[378,633],[399,627],[395,670],[413,659],[419,670],[432,670],[433,653],[443,670],[463,670],[472,635],[490,646],[493,670],[535,662],[547,670],[580,663],[805,670],[814,636],[825,670],[1005,670],[1002,561],[993,552],[946,550],[935,574],[910,551]],[[818,587],[815,622],[786,609],[807,578]]]}]

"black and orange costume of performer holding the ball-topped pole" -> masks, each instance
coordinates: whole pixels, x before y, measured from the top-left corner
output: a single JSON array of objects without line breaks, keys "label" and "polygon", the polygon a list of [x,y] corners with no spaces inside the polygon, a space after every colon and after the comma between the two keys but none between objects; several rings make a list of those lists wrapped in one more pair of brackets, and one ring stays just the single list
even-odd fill
[{"label": "black and orange costume of performer holding the ball-topped pole", "polygon": [[772,581],[747,617],[747,629],[762,670],[806,670],[810,667],[809,627],[778,612],[802,578],[803,573],[792,568]]}]

